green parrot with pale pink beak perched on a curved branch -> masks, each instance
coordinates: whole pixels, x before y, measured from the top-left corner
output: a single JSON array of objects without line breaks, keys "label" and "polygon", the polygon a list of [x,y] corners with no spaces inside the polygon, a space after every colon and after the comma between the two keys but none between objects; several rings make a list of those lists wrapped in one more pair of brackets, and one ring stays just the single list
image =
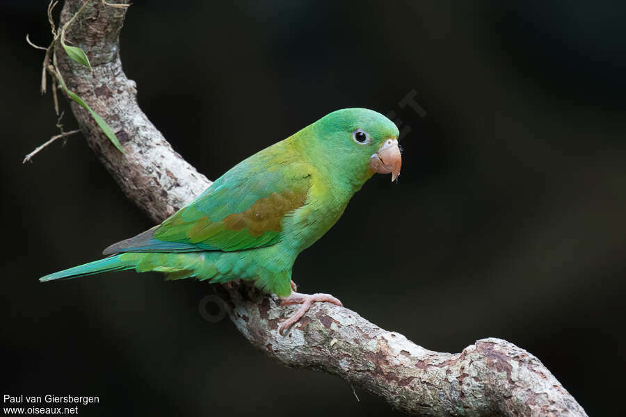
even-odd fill
[{"label": "green parrot with pale pink beak perched on a curved branch", "polygon": [[332,112],[241,161],[163,223],[107,247],[109,257],[40,281],[129,269],[164,272],[166,279],[254,281],[283,304],[302,304],[282,332],[312,302],[342,305],[332,295],[296,293],[291,268],[375,172],[398,177],[398,136],[375,111]]}]

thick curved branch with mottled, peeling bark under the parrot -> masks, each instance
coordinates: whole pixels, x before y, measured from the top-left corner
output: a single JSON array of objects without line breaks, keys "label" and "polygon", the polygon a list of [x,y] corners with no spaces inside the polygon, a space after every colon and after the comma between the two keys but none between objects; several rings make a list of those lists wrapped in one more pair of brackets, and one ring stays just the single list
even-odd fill
[{"label": "thick curved branch with mottled, peeling bark under the parrot", "polygon": [[[80,0],[65,1],[61,24],[80,6]],[[68,88],[109,122],[126,154],[70,101],[90,147],[129,199],[161,222],[211,181],[172,150],[137,105],[136,85],[122,72],[119,56],[127,10],[93,0],[67,35],[86,51],[93,73],[64,54],[58,66]],[[408,414],[586,416],[536,357],[506,341],[483,339],[458,354],[432,352],[328,303],[315,304],[281,336],[278,323],[293,306],[283,308],[249,286],[219,291],[237,329],[268,356],[285,366],[338,375]]]}]

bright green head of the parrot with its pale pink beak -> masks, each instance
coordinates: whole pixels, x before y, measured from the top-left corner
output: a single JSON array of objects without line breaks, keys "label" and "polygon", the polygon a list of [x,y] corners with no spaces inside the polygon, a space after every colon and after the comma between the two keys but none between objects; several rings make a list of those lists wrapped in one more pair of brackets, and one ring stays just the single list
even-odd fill
[{"label": "bright green head of the parrot with its pale pink beak", "polygon": [[402,158],[399,131],[394,122],[367,108],[334,111],[310,126],[314,133],[315,154],[323,165],[353,182],[372,174],[400,174]]}]

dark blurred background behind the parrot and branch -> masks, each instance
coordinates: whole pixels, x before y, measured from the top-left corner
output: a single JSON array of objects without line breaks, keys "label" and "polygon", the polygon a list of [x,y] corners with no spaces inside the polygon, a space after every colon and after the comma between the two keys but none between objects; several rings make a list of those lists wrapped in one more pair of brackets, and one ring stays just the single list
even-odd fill
[{"label": "dark blurred background behind the parrot and branch", "polygon": [[[588,414],[614,411],[625,3],[225,3],[137,0],[121,36],[143,111],[207,177],[337,108],[410,126],[399,184],[376,176],[355,195],[298,258],[300,289],[432,350],[504,338]],[[207,284],[134,272],[38,283],[152,226],[81,136],[22,165],[57,133],[43,51],[24,41],[49,42],[45,10],[13,0],[0,13],[0,394],[99,395],[79,407],[94,416],[392,414],[337,377],[278,366],[228,320],[204,321]],[[426,117],[399,106],[412,90]]]}]

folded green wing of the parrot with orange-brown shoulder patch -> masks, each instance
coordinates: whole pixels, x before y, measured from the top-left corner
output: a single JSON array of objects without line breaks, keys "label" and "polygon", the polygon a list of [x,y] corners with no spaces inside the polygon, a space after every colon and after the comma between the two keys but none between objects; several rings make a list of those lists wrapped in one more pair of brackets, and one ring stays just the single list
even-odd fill
[{"label": "folded green wing of the parrot with orange-brown shoulder patch", "polygon": [[283,218],[303,206],[309,193],[310,165],[294,159],[275,152],[251,156],[160,226],[103,253],[230,252],[272,245],[280,239]]}]

